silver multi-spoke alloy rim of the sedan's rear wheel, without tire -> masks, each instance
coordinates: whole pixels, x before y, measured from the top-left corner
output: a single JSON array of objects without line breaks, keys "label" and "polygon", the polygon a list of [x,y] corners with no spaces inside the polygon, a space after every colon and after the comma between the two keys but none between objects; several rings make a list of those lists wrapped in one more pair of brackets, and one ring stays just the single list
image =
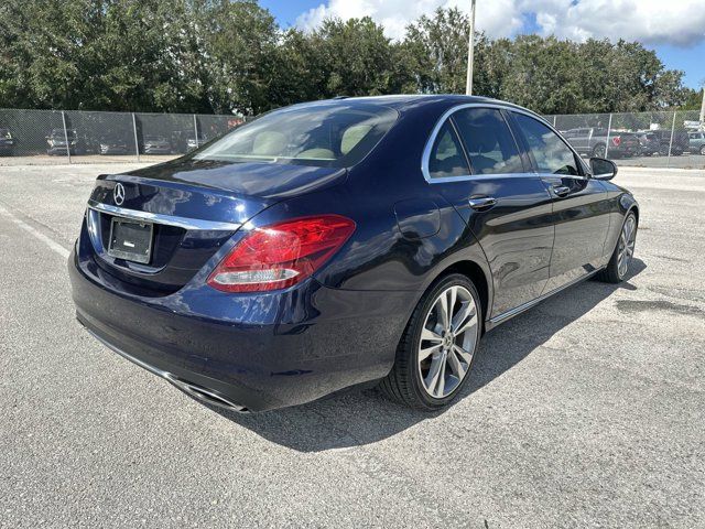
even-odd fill
[{"label": "silver multi-spoke alloy rim of the sedan's rear wheel, without tire", "polygon": [[447,397],[467,375],[477,347],[478,324],[475,299],[464,287],[447,288],[431,305],[417,355],[421,382],[431,397]]}]

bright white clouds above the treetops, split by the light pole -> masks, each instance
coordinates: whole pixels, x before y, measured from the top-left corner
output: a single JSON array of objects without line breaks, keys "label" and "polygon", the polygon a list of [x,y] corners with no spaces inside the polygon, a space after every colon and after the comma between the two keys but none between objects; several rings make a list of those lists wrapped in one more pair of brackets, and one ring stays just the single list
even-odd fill
[{"label": "bright white clouds above the treetops, split by the light pole", "polygon": [[[477,28],[488,35],[521,32],[533,15],[540,33],[563,39],[626,39],[688,46],[705,41],[705,0],[477,0]],[[438,7],[469,10],[469,0],[329,0],[302,13],[296,25],[317,26],[326,17],[371,17],[392,39]],[[705,60],[705,57],[704,57]]]}]

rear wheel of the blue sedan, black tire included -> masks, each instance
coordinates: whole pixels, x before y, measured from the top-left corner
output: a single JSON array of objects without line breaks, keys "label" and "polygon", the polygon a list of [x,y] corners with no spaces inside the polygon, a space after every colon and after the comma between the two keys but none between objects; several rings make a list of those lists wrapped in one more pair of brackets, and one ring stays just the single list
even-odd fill
[{"label": "rear wheel of the blue sedan, black tire included", "polygon": [[466,276],[437,280],[414,309],[381,389],[411,408],[447,406],[469,378],[481,317],[477,289]]}]

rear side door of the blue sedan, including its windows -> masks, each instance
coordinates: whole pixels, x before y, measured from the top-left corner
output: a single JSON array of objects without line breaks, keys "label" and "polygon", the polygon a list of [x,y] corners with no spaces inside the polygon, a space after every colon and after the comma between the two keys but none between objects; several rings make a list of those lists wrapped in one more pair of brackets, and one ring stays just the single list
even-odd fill
[{"label": "rear side door of the blue sedan, including its windows", "polygon": [[487,256],[495,287],[490,317],[534,300],[549,279],[551,196],[527,163],[501,108],[477,105],[458,107],[438,126],[424,161],[429,182]]}]

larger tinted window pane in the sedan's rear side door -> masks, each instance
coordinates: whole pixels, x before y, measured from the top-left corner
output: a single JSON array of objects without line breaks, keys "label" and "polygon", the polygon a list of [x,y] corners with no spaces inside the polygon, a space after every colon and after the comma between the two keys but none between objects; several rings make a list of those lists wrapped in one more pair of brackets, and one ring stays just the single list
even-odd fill
[{"label": "larger tinted window pane in the sedan's rear side door", "polygon": [[473,174],[523,173],[511,131],[495,108],[466,108],[453,115],[470,159]]}]

